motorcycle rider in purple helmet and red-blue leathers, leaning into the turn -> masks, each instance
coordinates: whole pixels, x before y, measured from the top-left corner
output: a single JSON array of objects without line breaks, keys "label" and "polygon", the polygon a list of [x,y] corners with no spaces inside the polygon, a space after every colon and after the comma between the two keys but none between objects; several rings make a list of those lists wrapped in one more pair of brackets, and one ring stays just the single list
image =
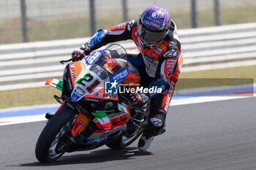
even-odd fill
[{"label": "motorcycle rider in purple helmet and red-blue leathers, leaning into the turn", "polygon": [[[91,51],[110,42],[132,39],[140,50],[137,58],[143,58],[140,83],[148,88],[164,87],[159,96],[151,97],[151,113],[148,126],[140,137],[138,149],[147,150],[154,136],[165,133],[165,117],[178,81],[181,69],[181,44],[178,40],[176,24],[164,7],[151,6],[142,12],[139,20],[130,20],[118,26],[97,31],[79,50],[72,53],[73,61],[78,61]],[[140,104],[140,94],[130,94],[133,104]]]}]

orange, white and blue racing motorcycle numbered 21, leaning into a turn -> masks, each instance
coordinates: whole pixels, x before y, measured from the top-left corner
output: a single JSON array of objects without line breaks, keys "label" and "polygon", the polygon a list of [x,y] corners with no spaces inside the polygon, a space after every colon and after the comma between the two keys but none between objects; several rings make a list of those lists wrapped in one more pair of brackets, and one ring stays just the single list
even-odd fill
[{"label": "orange, white and blue racing motorcycle numbered 21, leaning into a turn", "polygon": [[[63,80],[45,85],[61,90],[61,104],[47,113],[35,154],[41,163],[56,161],[64,152],[93,150],[102,145],[117,150],[132,144],[148,123],[150,100],[133,107],[121,85],[136,85],[140,74],[121,45],[109,45],[80,61],[68,63]],[[130,60],[131,59],[131,60]],[[69,60],[71,61],[71,60]],[[64,61],[61,61],[64,63]]]}]

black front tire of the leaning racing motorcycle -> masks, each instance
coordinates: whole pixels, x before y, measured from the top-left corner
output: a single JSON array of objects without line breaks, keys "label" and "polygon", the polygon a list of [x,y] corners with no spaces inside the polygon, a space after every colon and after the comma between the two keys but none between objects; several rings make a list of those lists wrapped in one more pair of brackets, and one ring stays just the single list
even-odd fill
[{"label": "black front tire of the leaning racing motorcycle", "polygon": [[[75,115],[76,112],[74,110],[64,105],[49,120],[37,140],[35,155],[38,161],[40,161],[41,163],[53,162],[64,154],[65,150],[56,152],[56,148],[61,147],[62,144],[64,145],[64,147],[67,147],[67,145],[70,144],[64,143],[69,141],[64,140],[64,137],[66,136],[65,134],[67,134],[65,133],[65,129],[69,128],[74,123],[74,121],[76,120]],[[67,127],[67,125],[69,127]],[[56,155],[53,155],[54,153]]]}]

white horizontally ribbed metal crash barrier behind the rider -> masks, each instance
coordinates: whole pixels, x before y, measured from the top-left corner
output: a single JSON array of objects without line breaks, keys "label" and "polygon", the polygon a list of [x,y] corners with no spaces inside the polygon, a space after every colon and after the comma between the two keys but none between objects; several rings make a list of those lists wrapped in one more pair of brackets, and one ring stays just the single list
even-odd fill
[{"label": "white horizontally ribbed metal crash barrier behind the rider", "polygon": [[[256,23],[178,31],[184,65],[181,72],[256,64]],[[61,78],[64,65],[89,38],[0,45],[0,90],[44,85]],[[135,49],[132,41],[118,42]]]}]

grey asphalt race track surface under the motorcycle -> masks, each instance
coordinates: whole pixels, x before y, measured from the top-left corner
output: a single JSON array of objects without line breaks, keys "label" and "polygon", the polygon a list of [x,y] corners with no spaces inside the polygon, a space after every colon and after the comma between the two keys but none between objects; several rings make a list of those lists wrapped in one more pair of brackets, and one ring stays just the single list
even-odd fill
[{"label": "grey asphalt race track surface under the motorcycle", "polygon": [[72,152],[56,163],[34,156],[45,121],[0,126],[1,170],[79,169],[256,169],[256,98],[173,106],[167,132],[157,136],[148,152],[137,142],[125,150]]}]

